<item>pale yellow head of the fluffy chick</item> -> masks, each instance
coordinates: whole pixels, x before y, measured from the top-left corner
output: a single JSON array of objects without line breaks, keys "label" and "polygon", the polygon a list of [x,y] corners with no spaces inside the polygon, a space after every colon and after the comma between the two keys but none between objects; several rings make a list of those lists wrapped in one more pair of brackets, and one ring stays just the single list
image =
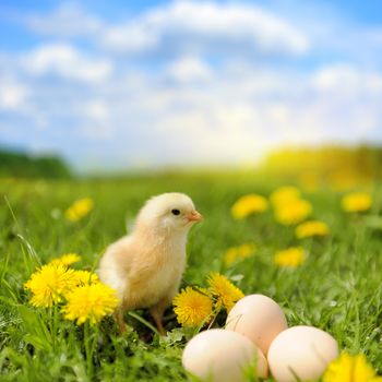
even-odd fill
[{"label": "pale yellow head of the fluffy chick", "polygon": [[188,231],[202,219],[188,195],[178,192],[151,198],[138,215],[136,226],[155,231]]}]

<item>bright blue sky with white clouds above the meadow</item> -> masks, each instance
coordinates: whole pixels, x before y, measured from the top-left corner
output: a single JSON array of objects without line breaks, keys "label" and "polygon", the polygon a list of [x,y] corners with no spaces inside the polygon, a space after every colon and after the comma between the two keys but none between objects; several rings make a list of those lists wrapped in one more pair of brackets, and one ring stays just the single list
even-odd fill
[{"label": "bright blue sky with white clouds above the meadow", "polygon": [[0,2],[0,147],[79,171],[382,143],[382,2]]}]

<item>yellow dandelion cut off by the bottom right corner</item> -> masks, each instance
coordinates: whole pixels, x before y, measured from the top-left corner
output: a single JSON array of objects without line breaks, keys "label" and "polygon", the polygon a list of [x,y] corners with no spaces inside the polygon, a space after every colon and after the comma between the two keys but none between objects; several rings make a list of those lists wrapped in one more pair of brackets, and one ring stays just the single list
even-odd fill
[{"label": "yellow dandelion cut off by the bottom right corner", "polygon": [[350,356],[343,353],[332,361],[324,375],[323,382],[374,382],[382,381],[375,377],[375,371],[368,363],[363,354]]}]

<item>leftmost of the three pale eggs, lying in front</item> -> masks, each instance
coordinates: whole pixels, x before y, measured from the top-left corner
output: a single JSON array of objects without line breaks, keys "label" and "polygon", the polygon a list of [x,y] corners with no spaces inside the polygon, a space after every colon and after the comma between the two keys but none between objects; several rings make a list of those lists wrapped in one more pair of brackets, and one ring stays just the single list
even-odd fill
[{"label": "leftmost of the three pale eggs, lying in front", "polygon": [[256,346],[241,334],[213,329],[201,332],[186,346],[182,365],[202,381],[246,381],[246,368],[256,360],[256,377],[267,377],[267,362]]}]

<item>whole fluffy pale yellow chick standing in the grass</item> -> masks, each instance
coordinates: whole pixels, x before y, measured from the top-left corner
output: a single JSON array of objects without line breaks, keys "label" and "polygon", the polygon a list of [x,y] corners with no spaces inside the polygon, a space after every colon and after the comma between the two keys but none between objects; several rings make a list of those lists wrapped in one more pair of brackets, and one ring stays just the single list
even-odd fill
[{"label": "whole fluffy pale yellow chick standing in the grass", "polygon": [[99,263],[99,278],[117,290],[116,318],[126,329],[123,312],[148,308],[162,335],[162,318],[179,289],[186,267],[187,234],[201,220],[192,200],[170,192],[150,199],[133,231],[110,244]]}]

